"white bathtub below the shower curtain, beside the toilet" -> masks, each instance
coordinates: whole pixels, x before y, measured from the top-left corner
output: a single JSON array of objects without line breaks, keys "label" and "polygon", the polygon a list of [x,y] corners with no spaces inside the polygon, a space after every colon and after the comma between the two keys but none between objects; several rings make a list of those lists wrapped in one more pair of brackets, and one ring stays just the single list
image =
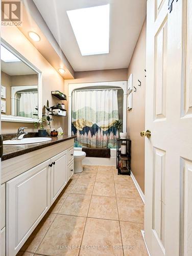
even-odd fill
[{"label": "white bathtub below the shower curtain, beside the toilet", "polygon": [[[74,147],[75,151],[82,151],[82,147]],[[116,148],[111,148],[111,157],[85,157],[83,164],[92,164],[92,165],[116,165]]]}]

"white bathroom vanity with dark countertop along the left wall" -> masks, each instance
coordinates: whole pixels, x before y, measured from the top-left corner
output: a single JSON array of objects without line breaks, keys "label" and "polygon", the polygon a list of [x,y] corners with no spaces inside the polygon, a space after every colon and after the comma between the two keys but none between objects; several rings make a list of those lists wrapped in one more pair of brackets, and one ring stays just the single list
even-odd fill
[{"label": "white bathroom vanity with dark countertop along the left wall", "polygon": [[1,184],[2,256],[14,256],[74,173],[74,138],[4,146]]}]

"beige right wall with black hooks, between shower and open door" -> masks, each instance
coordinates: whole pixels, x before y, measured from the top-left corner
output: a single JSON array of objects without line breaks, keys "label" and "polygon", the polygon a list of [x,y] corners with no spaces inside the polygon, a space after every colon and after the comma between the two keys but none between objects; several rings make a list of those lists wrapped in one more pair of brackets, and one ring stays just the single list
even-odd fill
[{"label": "beige right wall with black hooks, between shower and open door", "polygon": [[[140,131],[145,130],[145,68],[146,68],[146,21],[143,24],[131,62],[128,77],[133,74],[133,108],[127,112],[127,132],[132,140],[131,170],[143,193],[145,190],[145,139],[140,137]],[[138,81],[141,87],[138,87]]]}]

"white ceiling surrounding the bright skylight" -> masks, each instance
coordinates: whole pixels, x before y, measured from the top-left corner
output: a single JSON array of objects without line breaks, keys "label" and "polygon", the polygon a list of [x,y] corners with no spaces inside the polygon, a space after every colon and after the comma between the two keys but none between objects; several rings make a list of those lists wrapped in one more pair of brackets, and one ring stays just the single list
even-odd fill
[{"label": "white ceiling surrounding the bright skylight", "polygon": [[[146,17],[147,0],[33,1],[75,71],[128,68]],[[108,3],[109,54],[82,56],[66,11]]]}]

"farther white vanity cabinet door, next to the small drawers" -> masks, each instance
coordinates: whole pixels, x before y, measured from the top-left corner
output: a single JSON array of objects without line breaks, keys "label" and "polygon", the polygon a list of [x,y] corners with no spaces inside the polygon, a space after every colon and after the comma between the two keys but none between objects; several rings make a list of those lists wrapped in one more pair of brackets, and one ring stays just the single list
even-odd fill
[{"label": "farther white vanity cabinet door, next to the small drawers", "polygon": [[52,157],[51,161],[51,202],[53,203],[67,182],[67,151]]}]

